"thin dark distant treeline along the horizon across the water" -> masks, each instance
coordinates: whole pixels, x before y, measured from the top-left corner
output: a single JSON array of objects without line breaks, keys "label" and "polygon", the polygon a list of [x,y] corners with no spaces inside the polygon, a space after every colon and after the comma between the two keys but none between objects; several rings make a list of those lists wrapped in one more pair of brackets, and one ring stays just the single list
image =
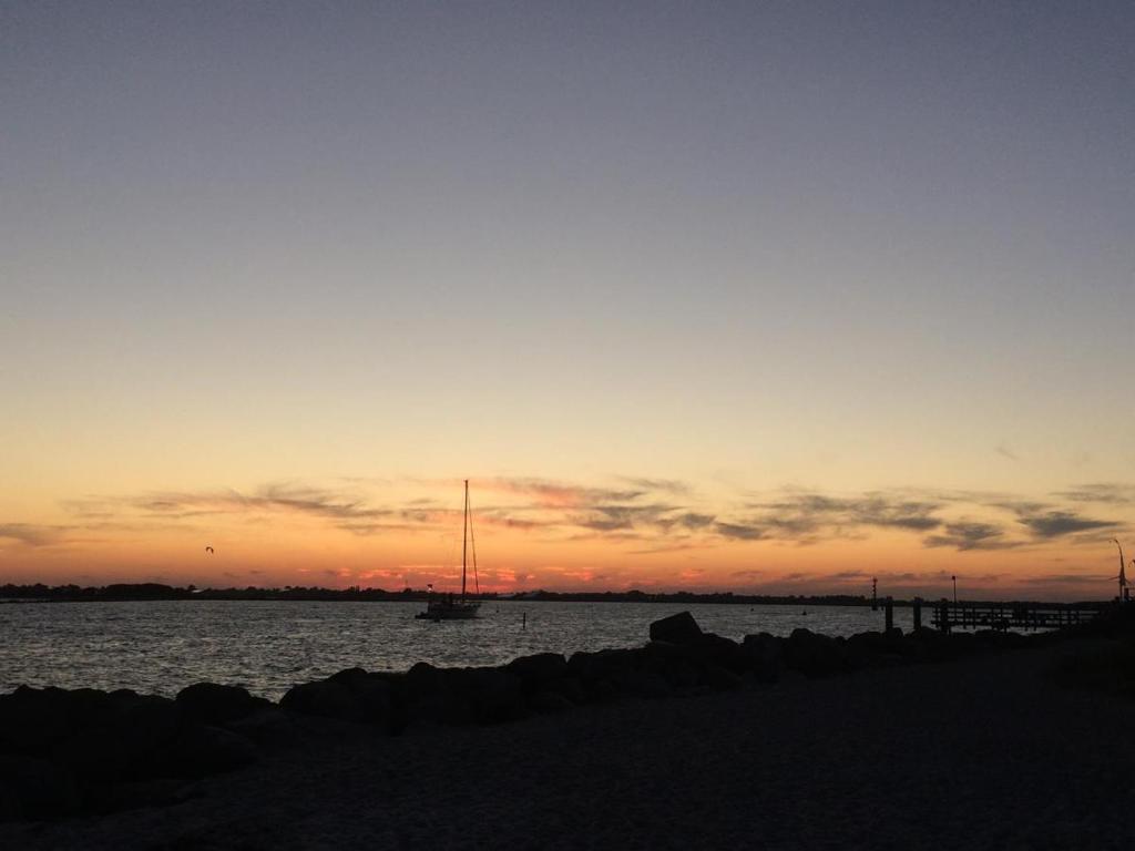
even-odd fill
[{"label": "thin dark distant treeline along the horizon across the water", "polygon": [[[442,592],[435,592],[442,593]],[[430,591],[405,588],[389,591],[381,588],[320,588],[318,585],[286,585],[284,588],[197,588],[195,585],[168,585],[158,582],[116,583],[109,585],[82,587],[77,584],[45,585],[5,584],[0,585],[0,603],[126,603],[146,600],[271,600],[271,601],[340,601],[340,603],[420,603],[430,599]],[[866,595],[754,595],[733,591],[698,593],[672,591],[653,593],[640,590],[628,591],[520,591],[515,593],[469,593],[472,600],[518,600],[524,603],[669,603],[679,605],[733,604],[743,606],[871,606]],[[886,597],[878,597],[882,606]],[[897,607],[910,607],[918,598],[890,598]],[[931,598],[927,598],[930,600]],[[941,599],[945,599],[944,597]],[[984,601],[986,598],[982,598]],[[1014,603],[1045,606],[1102,606],[1104,600],[1077,600],[1066,603],[1042,603],[1015,599]]]}]

